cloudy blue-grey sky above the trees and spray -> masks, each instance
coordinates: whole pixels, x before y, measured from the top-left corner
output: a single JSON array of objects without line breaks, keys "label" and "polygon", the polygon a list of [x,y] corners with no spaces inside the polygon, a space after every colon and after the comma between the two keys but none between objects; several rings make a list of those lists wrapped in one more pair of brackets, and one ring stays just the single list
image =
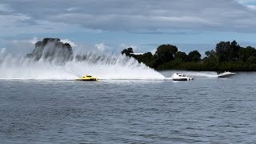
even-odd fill
[{"label": "cloudy blue-grey sky above the trees and spray", "polygon": [[170,43],[203,53],[234,39],[256,46],[256,0],[2,0],[0,31],[0,48],[10,51],[57,37],[84,49]]}]

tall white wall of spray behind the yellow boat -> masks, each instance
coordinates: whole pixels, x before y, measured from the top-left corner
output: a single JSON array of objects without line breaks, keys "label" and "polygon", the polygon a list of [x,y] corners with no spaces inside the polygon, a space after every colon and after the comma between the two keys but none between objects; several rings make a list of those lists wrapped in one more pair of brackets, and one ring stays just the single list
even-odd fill
[{"label": "tall white wall of spray behind the yellow boat", "polygon": [[[74,57],[76,54],[74,54]],[[86,59],[60,63],[58,58],[50,61],[40,58],[18,57],[0,50],[1,79],[59,79],[73,80],[82,74],[90,74],[100,79],[164,79],[157,71],[150,69],[134,58],[123,55],[86,54]]]}]

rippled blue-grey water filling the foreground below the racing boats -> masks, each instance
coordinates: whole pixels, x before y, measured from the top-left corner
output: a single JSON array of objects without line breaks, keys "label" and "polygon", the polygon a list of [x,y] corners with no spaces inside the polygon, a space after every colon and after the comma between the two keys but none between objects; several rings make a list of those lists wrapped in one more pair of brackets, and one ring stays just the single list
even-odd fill
[{"label": "rippled blue-grey water filling the foreground below the racing boats", "polygon": [[234,78],[0,80],[0,143],[254,143],[256,73]]}]

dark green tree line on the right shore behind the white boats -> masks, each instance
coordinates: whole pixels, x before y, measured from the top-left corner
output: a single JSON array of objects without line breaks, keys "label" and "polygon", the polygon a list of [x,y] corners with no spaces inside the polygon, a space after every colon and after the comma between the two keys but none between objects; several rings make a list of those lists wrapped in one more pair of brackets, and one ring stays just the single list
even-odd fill
[{"label": "dark green tree line on the right shore behind the white boats", "polygon": [[236,41],[218,42],[214,50],[205,52],[205,58],[201,58],[198,50],[186,54],[170,44],[158,46],[155,54],[134,54],[131,47],[122,50],[122,54],[135,58],[155,70],[256,70],[256,49],[252,46],[239,46]]}]

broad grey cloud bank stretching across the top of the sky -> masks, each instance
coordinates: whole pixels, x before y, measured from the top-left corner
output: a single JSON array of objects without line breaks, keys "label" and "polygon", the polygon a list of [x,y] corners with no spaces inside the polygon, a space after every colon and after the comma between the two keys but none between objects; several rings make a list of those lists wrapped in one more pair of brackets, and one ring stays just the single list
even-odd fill
[{"label": "broad grey cloud bank stretching across the top of the sky", "polygon": [[95,30],[256,31],[256,11],[234,0],[2,0],[13,13],[37,21],[63,22]]}]

